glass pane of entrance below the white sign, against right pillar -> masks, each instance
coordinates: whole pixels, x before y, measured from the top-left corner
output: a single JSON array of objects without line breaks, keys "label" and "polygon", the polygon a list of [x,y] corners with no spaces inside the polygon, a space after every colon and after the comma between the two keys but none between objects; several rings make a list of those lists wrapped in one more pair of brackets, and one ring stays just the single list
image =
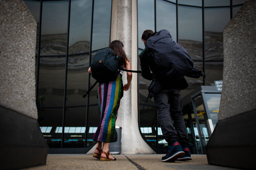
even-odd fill
[{"label": "glass pane of entrance below the white sign, against right pillar", "polygon": [[205,100],[210,114],[210,117],[208,117],[208,119],[212,119],[212,124],[214,128],[218,122],[220,96],[221,93],[205,93]]}]

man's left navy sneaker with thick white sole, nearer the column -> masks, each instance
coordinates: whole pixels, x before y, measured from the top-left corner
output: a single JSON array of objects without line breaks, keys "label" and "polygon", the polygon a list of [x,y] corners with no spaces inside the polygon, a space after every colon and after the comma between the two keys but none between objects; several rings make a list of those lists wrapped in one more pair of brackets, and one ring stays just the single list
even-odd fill
[{"label": "man's left navy sneaker with thick white sole, nearer the column", "polygon": [[174,162],[178,158],[185,155],[179,142],[175,142],[171,147],[168,146],[168,151],[165,156],[162,157],[162,162]]}]

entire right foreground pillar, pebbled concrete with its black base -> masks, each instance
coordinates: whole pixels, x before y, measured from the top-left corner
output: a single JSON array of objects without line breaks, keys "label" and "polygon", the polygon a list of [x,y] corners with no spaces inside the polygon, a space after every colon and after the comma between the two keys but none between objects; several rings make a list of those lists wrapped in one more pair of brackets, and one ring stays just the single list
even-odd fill
[{"label": "entire right foreground pillar, pebbled concrete with its black base", "polygon": [[209,164],[256,169],[256,1],[223,30],[223,87],[218,123],[206,145]]}]

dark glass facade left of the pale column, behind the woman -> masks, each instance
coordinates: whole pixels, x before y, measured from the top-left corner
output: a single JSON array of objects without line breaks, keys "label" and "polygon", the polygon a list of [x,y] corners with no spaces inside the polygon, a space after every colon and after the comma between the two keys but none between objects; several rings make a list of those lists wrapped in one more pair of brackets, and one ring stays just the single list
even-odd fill
[{"label": "dark glass facade left of the pale column, behind the woman", "polygon": [[82,96],[94,83],[88,68],[95,51],[110,43],[112,1],[24,2],[38,25],[36,95],[46,142],[49,148],[90,146],[99,123],[97,87]]}]

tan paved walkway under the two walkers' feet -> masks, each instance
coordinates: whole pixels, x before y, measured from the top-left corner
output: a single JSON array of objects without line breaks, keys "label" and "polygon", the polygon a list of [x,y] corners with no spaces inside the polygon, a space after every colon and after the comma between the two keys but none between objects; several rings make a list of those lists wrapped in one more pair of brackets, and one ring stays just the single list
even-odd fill
[{"label": "tan paved walkway under the two walkers' feet", "polygon": [[25,168],[40,169],[207,169],[231,170],[222,166],[209,165],[206,155],[192,155],[191,161],[161,162],[164,154],[155,155],[113,155],[116,161],[100,161],[90,154],[48,154],[46,165]]}]

